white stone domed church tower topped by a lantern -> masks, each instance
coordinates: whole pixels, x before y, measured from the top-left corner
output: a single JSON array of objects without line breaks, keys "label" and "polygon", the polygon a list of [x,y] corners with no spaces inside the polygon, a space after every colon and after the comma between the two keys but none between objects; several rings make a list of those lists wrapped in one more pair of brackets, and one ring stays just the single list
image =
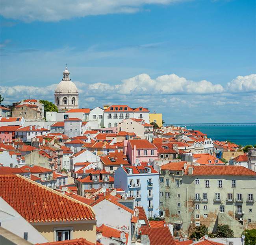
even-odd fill
[{"label": "white stone domed church tower topped by a lantern", "polygon": [[70,109],[78,109],[78,90],[76,85],[70,79],[70,72],[63,71],[63,79],[58,84],[54,101],[59,111],[68,111]]}]

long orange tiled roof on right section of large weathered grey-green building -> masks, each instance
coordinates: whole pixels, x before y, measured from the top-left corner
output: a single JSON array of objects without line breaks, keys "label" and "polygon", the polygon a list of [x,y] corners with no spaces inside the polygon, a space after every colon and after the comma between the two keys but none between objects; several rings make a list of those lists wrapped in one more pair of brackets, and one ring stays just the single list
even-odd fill
[{"label": "long orange tiled roof on right section of large weathered grey-green building", "polygon": [[[187,168],[186,174],[188,174],[188,168]],[[200,165],[200,166],[193,166],[193,175],[256,176],[256,172],[254,172],[248,168],[245,168],[244,166]]]}]

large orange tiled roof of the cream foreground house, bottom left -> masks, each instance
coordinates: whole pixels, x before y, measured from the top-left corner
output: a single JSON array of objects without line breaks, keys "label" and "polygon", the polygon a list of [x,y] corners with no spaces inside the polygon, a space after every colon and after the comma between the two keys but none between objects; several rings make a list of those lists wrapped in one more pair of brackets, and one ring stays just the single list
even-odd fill
[{"label": "large orange tiled roof of the cream foreground house, bottom left", "polygon": [[0,196],[28,222],[95,220],[90,206],[22,176],[0,176]]}]

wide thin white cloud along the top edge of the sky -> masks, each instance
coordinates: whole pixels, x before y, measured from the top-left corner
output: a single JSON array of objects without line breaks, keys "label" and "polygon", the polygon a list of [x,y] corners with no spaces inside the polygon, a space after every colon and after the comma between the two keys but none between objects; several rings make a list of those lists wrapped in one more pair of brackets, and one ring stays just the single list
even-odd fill
[{"label": "wide thin white cloud along the top edge of the sky", "polygon": [[59,21],[87,15],[135,13],[146,4],[170,4],[182,0],[2,0],[1,15],[24,22]]}]

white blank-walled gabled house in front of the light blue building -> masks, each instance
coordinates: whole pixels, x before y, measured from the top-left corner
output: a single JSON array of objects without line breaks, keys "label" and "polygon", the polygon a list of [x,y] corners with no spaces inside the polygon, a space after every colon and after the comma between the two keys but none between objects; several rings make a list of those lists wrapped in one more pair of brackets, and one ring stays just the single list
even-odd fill
[{"label": "white blank-walled gabled house in front of the light blue building", "polygon": [[[109,227],[113,227],[119,230],[119,234],[117,234],[119,238],[122,230],[128,233],[126,244],[132,244],[136,241],[138,210],[135,209],[134,201],[130,200],[129,203],[129,207],[127,207],[128,199],[123,200],[111,194],[106,194],[106,196],[99,197],[91,204],[97,214],[97,225],[100,226],[98,230],[103,232],[102,235],[104,237],[111,237],[107,235],[107,231],[112,234],[113,232],[117,232],[109,229]],[[106,225],[108,226],[106,227]],[[112,237],[114,238],[116,236],[112,235]],[[104,243],[103,241],[101,240],[100,242],[111,244]]]}]

